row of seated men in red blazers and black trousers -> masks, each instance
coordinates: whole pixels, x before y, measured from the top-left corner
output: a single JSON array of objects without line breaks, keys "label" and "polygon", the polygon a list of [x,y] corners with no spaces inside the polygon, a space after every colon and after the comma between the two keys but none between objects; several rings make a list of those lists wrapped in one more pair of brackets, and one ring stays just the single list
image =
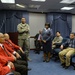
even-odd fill
[{"label": "row of seated men in red blazers and black trousers", "polygon": [[25,52],[15,45],[7,33],[0,33],[0,75],[27,75],[28,62]]}]

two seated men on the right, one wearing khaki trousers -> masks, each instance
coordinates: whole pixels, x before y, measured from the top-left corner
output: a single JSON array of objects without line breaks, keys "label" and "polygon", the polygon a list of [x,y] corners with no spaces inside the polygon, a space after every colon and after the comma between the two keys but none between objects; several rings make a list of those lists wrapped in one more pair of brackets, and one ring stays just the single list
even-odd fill
[{"label": "two seated men on the right, one wearing khaki trousers", "polygon": [[[58,57],[61,62],[61,66],[65,69],[70,66],[71,56],[75,54],[75,33],[70,33],[69,38],[62,43],[63,37],[59,31],[56,32],[56,36],[52,40],[52,55],[54,54],[54,50],[56,45],[60,45],[60,51],[58,52]],[[67,46],[67,48],[65,48]]]}]

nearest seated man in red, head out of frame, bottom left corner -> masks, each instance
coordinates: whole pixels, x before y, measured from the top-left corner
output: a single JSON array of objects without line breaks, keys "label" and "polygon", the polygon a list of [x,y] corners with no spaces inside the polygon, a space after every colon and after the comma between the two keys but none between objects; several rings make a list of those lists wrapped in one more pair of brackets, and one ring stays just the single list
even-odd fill
[{"label": "nearest seated man in red, head out of frame, bottom left corner", "polygon": [[15,71],[15,67],[12,62],[8,62],[5,57],[0,56],[0,75],[6,75],[10,72],[13,72],[14,75],[21,75],[19,72]]}]

